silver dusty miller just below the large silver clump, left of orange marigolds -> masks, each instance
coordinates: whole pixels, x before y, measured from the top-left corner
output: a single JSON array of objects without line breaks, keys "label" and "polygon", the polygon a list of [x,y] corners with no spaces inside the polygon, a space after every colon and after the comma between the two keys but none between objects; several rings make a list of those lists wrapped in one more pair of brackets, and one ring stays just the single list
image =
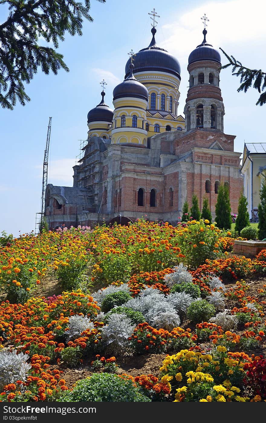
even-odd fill
[{"label": "silver dusty miller just below the large silver clump, left of orange marigolds", "polygon": [[134,325],[125,314],[111,314],[107,324],[101,328],[101,339],[106,352],[115,356],[129,353],[128,338],[133,330]]}]

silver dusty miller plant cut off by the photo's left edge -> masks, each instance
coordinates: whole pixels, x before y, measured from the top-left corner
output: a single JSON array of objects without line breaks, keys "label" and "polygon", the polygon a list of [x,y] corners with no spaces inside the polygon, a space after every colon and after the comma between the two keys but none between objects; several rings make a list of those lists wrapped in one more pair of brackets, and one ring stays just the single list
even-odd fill
[{"label": "silver dusty miller plant cut off by the photo's left edge", "polygon": [[0,350],[0,391],[9,383],[16,383],[17,380],[25,382],[31,364],[27,363],[29,356],[16,351]]}]

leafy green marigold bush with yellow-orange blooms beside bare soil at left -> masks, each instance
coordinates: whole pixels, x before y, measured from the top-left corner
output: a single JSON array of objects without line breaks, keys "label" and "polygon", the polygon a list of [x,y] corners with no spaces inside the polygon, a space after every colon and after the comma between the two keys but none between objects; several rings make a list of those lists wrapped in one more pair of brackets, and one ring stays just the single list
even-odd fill
[{"label": "leafy green marigold bush with yellow-orange blooms beside bare soil at left", "polygon": [[82,278],[87,268],[87,259],[83,256],[69,258],[68,262],[61,264],[57,270],[58,282],[64,291],[81,288],[84,283]]}]

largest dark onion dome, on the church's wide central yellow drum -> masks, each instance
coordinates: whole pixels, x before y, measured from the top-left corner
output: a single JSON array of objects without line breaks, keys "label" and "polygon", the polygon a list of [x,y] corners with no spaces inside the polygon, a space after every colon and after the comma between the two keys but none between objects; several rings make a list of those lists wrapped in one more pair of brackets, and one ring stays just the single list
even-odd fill
[{"label": "largest dark onion dome, on the church's wide central yellow drum", "polygon": [[[180,79],[180,63],[170,55],[167,50],[157,46],[155,41],[156,28],[151,29],[152,40],[148,47],[140,50],[134,58],[134,73],[146,71],[159,71],[176,75]],[[130,59],[126,62],[126,77],[129,74]]]}]

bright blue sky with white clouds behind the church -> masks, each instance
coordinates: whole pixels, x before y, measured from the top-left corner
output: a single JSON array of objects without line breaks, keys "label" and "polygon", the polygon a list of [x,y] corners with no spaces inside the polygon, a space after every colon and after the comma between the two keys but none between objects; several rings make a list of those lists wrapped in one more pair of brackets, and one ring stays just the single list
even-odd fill
[{"label": "bright blue sky with white clouds behind the church", "polygon": [[[207,42],[233,55],[243,66],[266,71],[266,3],[257,0],[186,2],[161,0],[91,0],[93,22],[83,23],[82,36],[66,34],[58,52],[70,71],[44,75],[41,69],[25,91],[31,101],[14,110],[0,109],[0,233],[14,237],[35,231],[41,211],[44,150],[49,117],[52,117],[47,183],[73,186],[73,169],[80,157],[80,143],[88,137],[87,114],[101,101],[104,79],[105,102],[112,106],[112,91],[123,81],[128,52],[138,52],[151,41],[151,19],[159,14],[156,43],[178,58],[181,84],[178,114],[184,115],[188,90],[190,52],[203,40],[206,14]],[[0,23],[8,11],[0,5]],[[47,45],[40,40],[42,45]],[[50,44],[50,47],[53,47]],[[227,63],[220,52],[222,65]],[[266,104],[256,106],[258,91],[237,92],[240,78],[231,68],[220,74],[225,104],[224,132],[236,135],[234,151],[243,153],[244,142],[265,142]],[[82,140],[82,141],[81,141]],[[38,215],[39,216],[39,215]]]}]

